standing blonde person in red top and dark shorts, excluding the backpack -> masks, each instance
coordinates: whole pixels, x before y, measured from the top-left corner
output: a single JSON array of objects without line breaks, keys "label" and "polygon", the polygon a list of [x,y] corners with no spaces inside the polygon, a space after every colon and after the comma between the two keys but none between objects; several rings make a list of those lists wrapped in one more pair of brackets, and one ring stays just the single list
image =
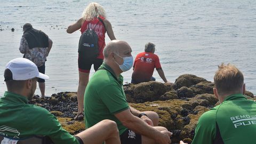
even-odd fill
[{"label": "standing blonde person in red top and dark shorts, excluding the backpack", "polygon": [[[101,21],[101,20],[102,21]],[[105,26],[104,26],[105,25]],[[77,89],[77,102],[78,111],[74,118],[75,120],[83,119],[83,103],[84,103],[84,91],[89,81],[89,74],[91,66],[93,65],[96,71],[103,62],[103,48],[105,47],[105,33],[107,31],[108,37],[113,40],[116,39],[111,23],[106,19],[106,13],[103,7],[98,3],[90,3],[84,10],[82,18],[80,18],[74,24],[68,26],[67,33],[71,34],[74,31],[81,29],[81,34],[86,29],[93,29],[98,35],[99,54],[96,59],[85,60],[84,55],[78,54],[78,72],[79,83]]]}]

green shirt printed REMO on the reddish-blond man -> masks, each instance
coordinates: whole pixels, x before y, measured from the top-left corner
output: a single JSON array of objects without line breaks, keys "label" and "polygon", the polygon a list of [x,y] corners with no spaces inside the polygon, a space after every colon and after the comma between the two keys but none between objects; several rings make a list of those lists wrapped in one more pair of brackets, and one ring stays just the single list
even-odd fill
[{"label": "green shirt printed REMO on the reddish-blond man", "polygon": [[192,143],[251,143],[255,133],[256,102],[233,94],[199,118]]}]

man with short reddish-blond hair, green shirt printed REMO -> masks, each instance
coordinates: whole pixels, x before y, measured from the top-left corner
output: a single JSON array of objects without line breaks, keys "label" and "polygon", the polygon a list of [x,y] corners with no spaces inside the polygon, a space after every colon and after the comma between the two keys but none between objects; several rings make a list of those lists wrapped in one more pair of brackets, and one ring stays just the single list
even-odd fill
[{"label": "man with short reddish-blond hair, green shirt printed REMO", "polygon": [[255,142],[256,103],[243,95],[245,84],[241,71],[222,63],[215,73],[214,84],[213,93],[221,104],[199,118],[192,143]]}]

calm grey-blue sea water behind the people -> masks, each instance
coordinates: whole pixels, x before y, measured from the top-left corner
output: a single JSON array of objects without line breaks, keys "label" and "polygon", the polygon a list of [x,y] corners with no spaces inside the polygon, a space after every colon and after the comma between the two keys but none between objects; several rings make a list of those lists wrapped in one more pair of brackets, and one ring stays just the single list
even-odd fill
[{"label": "calm grey-blue sea water behind the people", "polygon": [[[0,95],[6,91],[3,71],[19,52],[22,26],[30,22],[53,41],[46,61],[46,95],[76,91],[80,31],[66,28],[81,17],[91,1],[0,0]],[[147,42],[156,44],[170,82],[181,74],[213,81],[221,62],[233,63],[244,74],[246,89],[256,94],[256,1],[97,1],[106,10],[116,38],[127,41],[135,57]],[[11,28],[15,31],[11,32]],[[106,35],[107,36],[107,35]],[[107,37],[106,42],[110,39]],[[91,75],[94,71],[91,71]],[[123,73],[131,81],[132,70]],[[163,82],[155,71],[157,81]],[[39,94],[37,88],[36,94]]]}]

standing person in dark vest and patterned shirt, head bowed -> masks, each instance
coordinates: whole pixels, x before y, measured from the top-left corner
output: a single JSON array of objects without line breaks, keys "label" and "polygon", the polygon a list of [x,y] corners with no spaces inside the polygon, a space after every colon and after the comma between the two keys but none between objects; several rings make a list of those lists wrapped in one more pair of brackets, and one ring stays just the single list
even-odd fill
[{"label": "standing person in dark vest and patterned shirt, head bowed", "polygon": [[[23,25],[20,52],[23,58],[33,61],[40,73],[45,73],[45,61],[52,48],[52,40],[41,30],[34,29],[30,23]],[[45,81],[38,78],[42,98],[45,96]]]}]

